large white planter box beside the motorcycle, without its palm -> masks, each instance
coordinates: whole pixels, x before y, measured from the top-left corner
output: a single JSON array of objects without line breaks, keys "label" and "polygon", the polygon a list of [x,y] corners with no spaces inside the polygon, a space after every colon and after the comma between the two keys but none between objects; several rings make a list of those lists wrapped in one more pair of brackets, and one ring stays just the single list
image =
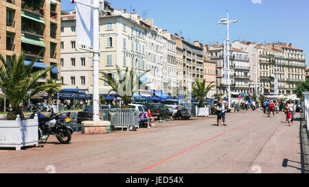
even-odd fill
[{"label": "large white planter box beside the motorcycle, without its palm", "polygon": [[17,116],[15,121],[0,121],[0,147],[38,146],[38,117],[23,120]]}]

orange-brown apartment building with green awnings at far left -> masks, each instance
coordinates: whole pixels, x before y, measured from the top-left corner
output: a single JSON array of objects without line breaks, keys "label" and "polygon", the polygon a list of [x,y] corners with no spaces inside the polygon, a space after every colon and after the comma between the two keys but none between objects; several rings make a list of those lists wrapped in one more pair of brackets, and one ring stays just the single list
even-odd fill
[{"label": "orange-brown apartment building with green awnings at far left", "polygon": [[[60,64],[60,0],[0,1],[0,53],[10,63],[25,51],[25,65],[38,55],[34,71]],[[59,66],[39,79],[59,79]]]}]

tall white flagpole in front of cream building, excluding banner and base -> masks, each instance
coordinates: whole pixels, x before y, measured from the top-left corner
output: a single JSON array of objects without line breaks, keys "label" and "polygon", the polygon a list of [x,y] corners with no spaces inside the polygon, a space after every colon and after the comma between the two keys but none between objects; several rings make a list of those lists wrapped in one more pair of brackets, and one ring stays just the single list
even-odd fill
[{"label": "tall white flagpole in front of cream building, excluding banner and base", "polygon": [[93,1],[93,121],[100,121],[99,95],[99,0]]}]

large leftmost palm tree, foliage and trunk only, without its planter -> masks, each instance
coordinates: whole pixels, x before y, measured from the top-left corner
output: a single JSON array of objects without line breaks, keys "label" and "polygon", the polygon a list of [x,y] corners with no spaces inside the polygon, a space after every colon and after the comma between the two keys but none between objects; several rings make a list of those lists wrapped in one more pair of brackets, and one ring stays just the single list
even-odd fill
[{"label": "large leftmost palm tree, foliage and trunk only, without its planter", "polygon": [[55,66],[32,72],[37,59],[38,57],[34,58],[29,66],[25,66],[25,53],[21,52],[18,59],[16,54],[12,55],[10,64],[7,64],[0,54],[0,88],[12,108],[6,116],[8,120],[16,119],[17,114],[21,116],[21,119],[25,119],[20,108],[21,102],[45,90],[47,86],[47,84],[39,84],[38,79],[44,77]]}]

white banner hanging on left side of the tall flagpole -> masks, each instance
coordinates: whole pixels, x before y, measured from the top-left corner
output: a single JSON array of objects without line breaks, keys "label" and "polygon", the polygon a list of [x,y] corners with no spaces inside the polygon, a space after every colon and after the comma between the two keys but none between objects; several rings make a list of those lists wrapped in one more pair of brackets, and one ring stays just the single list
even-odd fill
[{"label": "white banner hanging on left side of the tall flagpole", "polygon": [[93,47],[93,0],[76,2],[76,42]]}]

